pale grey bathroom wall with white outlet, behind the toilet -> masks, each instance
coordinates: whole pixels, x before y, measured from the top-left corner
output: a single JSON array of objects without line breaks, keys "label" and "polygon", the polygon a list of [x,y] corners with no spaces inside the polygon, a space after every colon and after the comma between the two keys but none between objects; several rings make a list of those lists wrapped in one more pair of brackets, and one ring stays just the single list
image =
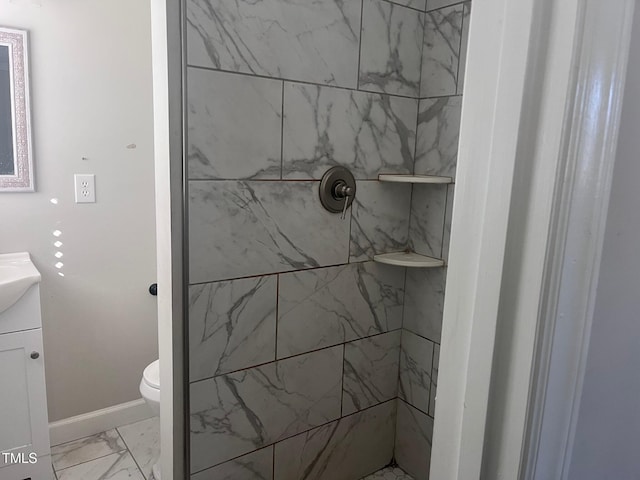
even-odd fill
[{"label": "pale grey bathroom wall with white outlet, behind the toilet", "polygon": [[[0,193],[0,252],[28,251],[42,273],[55,421],[140,398],[158,358],[150,12],[127,0],[0,0],[0,12],[29,31],[36,181]],[[74,173],[96,174],[97,203],[75,203]]]}]

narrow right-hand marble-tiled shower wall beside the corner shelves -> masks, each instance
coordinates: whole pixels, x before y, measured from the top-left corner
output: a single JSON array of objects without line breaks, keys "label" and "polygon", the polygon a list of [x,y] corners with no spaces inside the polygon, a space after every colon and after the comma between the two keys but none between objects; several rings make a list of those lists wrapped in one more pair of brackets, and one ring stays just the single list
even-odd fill
[{"label": "narrow right-hand marble-tiled shower wall beside the corner shelves", "polygon": [[[471,3],[427,0],[414,172],[455,179]],[[410,246],[449,255],[455,187],[415,185]],[[395,459],[416,480],[429,478],[445,269],[408,269],[400,356]]]}]

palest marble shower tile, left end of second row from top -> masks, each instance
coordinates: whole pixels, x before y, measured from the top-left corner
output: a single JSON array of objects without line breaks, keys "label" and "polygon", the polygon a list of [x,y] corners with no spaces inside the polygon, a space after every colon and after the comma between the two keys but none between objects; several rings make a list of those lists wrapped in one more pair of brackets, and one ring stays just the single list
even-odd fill
[{"label": "palest marble shower tile, left end of second row from top", "polygon": [[282,82],[189,68],[190,179],[280,178]]}]

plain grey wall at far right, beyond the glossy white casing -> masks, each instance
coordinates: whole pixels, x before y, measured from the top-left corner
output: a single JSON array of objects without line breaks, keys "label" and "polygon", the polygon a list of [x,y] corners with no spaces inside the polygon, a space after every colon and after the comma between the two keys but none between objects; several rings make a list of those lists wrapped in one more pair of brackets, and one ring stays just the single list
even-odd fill
[{"label": "plain grey wall at far right, beyond the glossy white casing", "polygon": [[640,9],[569,478],[640,478]]}]

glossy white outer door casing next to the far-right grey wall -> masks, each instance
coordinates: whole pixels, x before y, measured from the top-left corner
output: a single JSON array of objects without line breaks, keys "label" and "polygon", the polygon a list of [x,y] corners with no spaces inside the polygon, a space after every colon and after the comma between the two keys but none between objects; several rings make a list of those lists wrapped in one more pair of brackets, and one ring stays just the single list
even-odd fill
[{"label": "glossy white outer door casing next to the far-right grey wall", "polygon": [[541,292],[525,479],[566,479],[593,322],[634,0],[581,2],[566,158]]}]

